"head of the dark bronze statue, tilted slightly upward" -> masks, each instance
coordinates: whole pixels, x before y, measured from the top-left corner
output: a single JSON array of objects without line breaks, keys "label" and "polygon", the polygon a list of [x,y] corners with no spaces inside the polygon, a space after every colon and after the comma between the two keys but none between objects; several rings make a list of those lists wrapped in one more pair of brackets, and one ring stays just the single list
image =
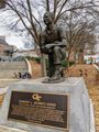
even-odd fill
[{"label": "head of the dark bronze statue, tilted slightly upward", "polygon": [[53,13],[52,12],[46,12],[43,16],[44,19],[44,23],[47,25],[47,24],[51,24],[53,22]]}]

